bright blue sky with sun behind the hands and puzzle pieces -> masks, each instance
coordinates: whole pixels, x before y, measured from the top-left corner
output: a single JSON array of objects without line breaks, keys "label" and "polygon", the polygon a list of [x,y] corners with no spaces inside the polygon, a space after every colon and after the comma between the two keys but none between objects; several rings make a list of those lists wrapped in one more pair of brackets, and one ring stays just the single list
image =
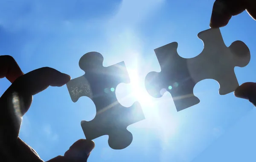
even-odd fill
[{"label": "bright blue sky with sun behind the hands and puzzle pieces", "polygon": [[[172,96],[152,98],[144,78],[160,71],[154,49],[178,42],[178,53],[191,58],[201,53],[197,34],[209,29],[213,0],[2,0],[0,1],[0,54],[11,55],[24,73],[53,67],[72,78],[84,72],[78,62],[84,53],[97,51],[104,66],[125,61],[131,84],[120,84],[121,100],[127,87],[134,97],[123,106],[140,101],[146,120],[128,126],[134,140],[123,150],[108,146],[108,136],[94,140],[88,162],[254,162],[256,110],[232,93],[219,95],[214,80],[196,84],[200,103],[177,112]],[[236,67],[239,84],[256,81],[256,22],[246,12],[221,28],[229,46],[243,41],[250,49],[247,67]],[[9,87],[0,80],[0,94]],[[63,155],[84,138],[81,120],[92,120],[96,109],[89,98],[73,103],[67,87],[49,87],[34,96],[23,117],[20,138],[44,160]]]}]

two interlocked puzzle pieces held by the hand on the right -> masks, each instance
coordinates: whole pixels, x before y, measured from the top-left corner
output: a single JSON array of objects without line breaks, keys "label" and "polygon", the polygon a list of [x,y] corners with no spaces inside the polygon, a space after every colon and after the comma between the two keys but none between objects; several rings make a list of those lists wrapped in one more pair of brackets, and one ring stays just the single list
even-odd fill
[{"label": "two interlocked puzzle pieces held by the hand on the right", "polygon": [[218,81],[220,95],[235,91],[239,84],[234,67],[245,67],[250,61],[247,45],[236,41],[227,47],[219,28],[202,31],[198,38],[204,42],[204,50],[191,59],[178,55],[177,42],[155,49],[161,72],[150,72],[145,78],[148,93],[160,98],[164,92],[170,92],[177,111],[200,102],[193,88],[204,79]]}]

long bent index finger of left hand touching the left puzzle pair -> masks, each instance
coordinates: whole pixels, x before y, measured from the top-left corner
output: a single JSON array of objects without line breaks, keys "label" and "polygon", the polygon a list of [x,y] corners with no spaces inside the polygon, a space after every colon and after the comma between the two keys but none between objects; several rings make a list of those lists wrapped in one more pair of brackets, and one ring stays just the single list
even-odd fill
[{"label": "long bent index finger of left hand touching the left puzzle pair", "polygon": [[43,67],[17,78],[1,99],[3,98],[2,102],[6,102],[13,101],[13,98],[16,97],[19,101],[22,101],[23,109],[20,111],[21,115],[24,115],[32,102],[32,95],[47,89],[49,86],[61,87],[68,81],[70,81],[69,75],[50,67]]}]

